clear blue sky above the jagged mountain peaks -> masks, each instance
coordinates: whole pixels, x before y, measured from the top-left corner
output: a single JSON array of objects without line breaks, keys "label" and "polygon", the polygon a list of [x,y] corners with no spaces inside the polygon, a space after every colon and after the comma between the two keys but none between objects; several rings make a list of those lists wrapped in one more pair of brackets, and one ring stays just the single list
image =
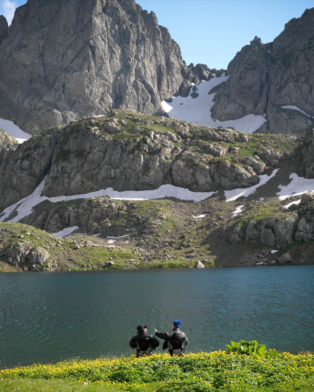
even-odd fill
[{"label": "clear blue sky above the jagged mountain peaks", "polygon": [[[53,1],[53,0],[51,0]],[[11,23],[16,7],[26,0],[0,0],[0,14]],[[285,23],[299,18],[314,0],[136,0],[154,11],[169,29],[187,64],[227,68],[234,55],[255,35],[271,42]]]}]

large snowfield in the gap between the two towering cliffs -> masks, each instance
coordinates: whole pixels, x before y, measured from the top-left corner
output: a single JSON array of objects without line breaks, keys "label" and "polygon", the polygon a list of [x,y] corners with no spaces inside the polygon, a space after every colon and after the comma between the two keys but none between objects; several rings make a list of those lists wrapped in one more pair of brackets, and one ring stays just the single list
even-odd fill
[{"label": "large snowfield in the gap between the two towering cliffs", "polygon": [[[214,105],[214,96],[216,93],[208,94],[213,87],[225,82],[229,76],[223,73],[220,77],[206,81],[203,80],[197,87],[197,98],[191,95],[183,98],[181,96],[172,97],[172,102],[162,101],[162,107],[170,117],[175,117],[183,121],[190,121],[200,126],[206,127],[232,127],[236,131],[252,133],[260,128],[266,119],[263,116],[248,114],[237,120],[219,121],[212,119],[211,108]],[[192,93],[192,87],[190,94]]]}]

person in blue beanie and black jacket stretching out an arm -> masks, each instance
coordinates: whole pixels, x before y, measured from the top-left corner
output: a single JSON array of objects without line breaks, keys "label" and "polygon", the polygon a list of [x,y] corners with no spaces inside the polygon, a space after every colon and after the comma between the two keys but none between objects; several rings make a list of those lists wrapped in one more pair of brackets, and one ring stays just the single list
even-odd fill
[{"label": "person in blue beanie and black jacket stretching out an arm", "polygon": [[168,348],[169,354],[171,356],[173,354],[179,356],[182,355],[184,352],[184,347],[188,343],[187,336],[179,328],[181,324],[182,322],[180,320],[174,320],[171,325],[172,330],[169,332],[158,332],[158,330],[155,328],[155,335],[158,336],[158,338],[165,339],[162,345],[162,349],[165,350]]}]

